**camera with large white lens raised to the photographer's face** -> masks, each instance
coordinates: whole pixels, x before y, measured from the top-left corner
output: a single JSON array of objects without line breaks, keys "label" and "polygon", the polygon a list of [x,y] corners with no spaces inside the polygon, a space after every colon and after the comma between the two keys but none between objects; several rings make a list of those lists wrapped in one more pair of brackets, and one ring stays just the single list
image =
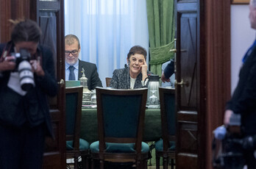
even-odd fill
[{"label": "camera with large white lens raised to the photographer's face", "polygon": [[32,87],[35,87],[34,74],[29,63],[31,59],[29,51],[21,48],[20,53],[13,53],[12,56],[15,57],[14,62],[16,63],[16,68],[14,71],[18,71],[21,89],[28,91]]}]

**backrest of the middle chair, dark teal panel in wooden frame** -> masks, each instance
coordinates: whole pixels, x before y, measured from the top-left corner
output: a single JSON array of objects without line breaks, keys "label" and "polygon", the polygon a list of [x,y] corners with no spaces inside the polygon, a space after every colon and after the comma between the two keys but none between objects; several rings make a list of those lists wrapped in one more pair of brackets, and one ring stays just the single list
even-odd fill
[{"label": "backrest of the middle chair, dark teal panel in wooden frame", "polygon": [[105,143],[135,143],[141,152],[147,89],[96,87],[99,151]]}]

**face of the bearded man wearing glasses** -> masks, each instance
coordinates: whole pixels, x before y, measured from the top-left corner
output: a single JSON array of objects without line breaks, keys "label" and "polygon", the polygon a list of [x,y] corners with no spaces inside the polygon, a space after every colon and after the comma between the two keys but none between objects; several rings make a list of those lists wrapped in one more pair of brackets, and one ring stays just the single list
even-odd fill
[{"label": "face of the bearded man wearing glasses", "polygon": [[65,44],[65,62],[68,65],[74,65],[79,57],[80,48],[78,47],[77,40],[74,40],[74,43],[70,46]]}]

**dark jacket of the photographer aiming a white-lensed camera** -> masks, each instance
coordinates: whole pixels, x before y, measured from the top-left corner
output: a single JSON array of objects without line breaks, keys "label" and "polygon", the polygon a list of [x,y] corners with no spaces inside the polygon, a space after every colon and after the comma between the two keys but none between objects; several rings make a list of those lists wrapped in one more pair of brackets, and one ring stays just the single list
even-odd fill
[{"label": "dark jacket of the photographer aiming a white-lensed camera", "polygon": [[[0,56],[5,45],[0,44]],[[14,48],[12,47],[10,52],[13,51]],[[51,50],[45,46],[38,45],[38,54],[41,56],[41,64],[45,76],[36,76],[34,73],[35,87],[29,90],[25,96],[21,96],[7,87],[11,72],[1,72],[0,124],[19,127],[26,123],[33,127],[45,123],[48,134],[53,137],[47,96],[53,97],[57,95],[54,60]]]}]

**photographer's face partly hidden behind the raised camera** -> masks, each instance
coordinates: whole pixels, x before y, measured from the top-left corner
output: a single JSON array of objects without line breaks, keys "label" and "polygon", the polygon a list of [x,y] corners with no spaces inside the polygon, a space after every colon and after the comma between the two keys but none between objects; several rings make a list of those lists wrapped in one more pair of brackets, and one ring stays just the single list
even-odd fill
[{"label": "photographer's face partly hidden behind the raised camera", "polygon": [[29,42],[23,41],[23,42],[15,43],[16,52],[19,53],[21,48],[26,49],[27,51],[29,51],[31,55],[33,55],[37,52],[38,43],[32,42],[32,41],[29,41]]}]

